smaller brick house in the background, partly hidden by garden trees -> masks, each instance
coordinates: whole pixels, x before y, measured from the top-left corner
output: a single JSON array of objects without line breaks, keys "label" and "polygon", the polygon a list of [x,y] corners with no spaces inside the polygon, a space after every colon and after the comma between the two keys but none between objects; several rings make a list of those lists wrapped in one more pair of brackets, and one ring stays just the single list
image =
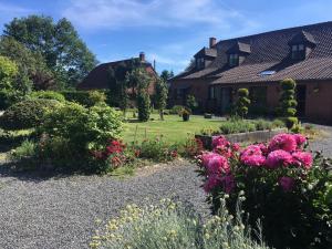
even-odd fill
[{"label": "smaller brick house in the background, partly hidden by garden trees", "polygon": [[[139,58],[132,58],[122,61],[114,61],[102,63],[94,68],[85,79],[77,85],[79,90],[107,90],[110,89],[110,70],[115,70],[117,65],[124,64],[127,65],[131,62],[138,62],[139,66],[143,66],[146,72],[149,74],[152,81],[148,87],[148,93],[151,95],[155,92],[155,83],[158,79],[158,74],[156,73],[154,66],[145,60],[145,54],[143,52],[139,53]],[[128,92],[131,92],[128,90]]]}]

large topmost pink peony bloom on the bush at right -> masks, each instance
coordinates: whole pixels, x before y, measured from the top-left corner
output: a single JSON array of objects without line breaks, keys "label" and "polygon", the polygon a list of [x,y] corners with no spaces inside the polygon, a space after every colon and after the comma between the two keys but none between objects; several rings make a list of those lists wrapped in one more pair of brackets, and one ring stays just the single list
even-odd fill
[{"label": "large topmost pink peony bloom on the bush at right", "polygon": [[286,152],[294,152],[297,149],[297,139],[291,134],[278,134],[276,135],[270,144],[269,144],[269,151],[273,152],[277,149],[282,149]]}]

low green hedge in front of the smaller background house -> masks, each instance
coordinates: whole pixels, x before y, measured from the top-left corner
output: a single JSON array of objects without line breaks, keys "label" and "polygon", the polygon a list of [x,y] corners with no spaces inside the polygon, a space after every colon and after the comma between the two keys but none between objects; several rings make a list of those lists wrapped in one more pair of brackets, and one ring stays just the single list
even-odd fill
[{"label": "low green hedge in front of the smaller background house", "polygon": [[66,101],[79,103],[91,107],[106,100],[106,95],[98,91],[62,91],[60,92]]}]

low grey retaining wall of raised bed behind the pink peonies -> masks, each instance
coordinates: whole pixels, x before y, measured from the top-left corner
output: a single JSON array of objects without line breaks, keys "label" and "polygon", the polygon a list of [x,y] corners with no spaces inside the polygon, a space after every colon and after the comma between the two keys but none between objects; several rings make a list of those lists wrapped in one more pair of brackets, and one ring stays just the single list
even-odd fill
[{"label": "low grey retaining wall of raised bed behind the pink peonies", "polygon": [[[249,133],[236,133],[236,134],[219,134],[214,136],[225,136],[229,142],[231,143],[243,143],[243,142],[250,142],[250,143],[260,143],[260,142],[267,142],[271,139],[273,136],[280,133],[287,133],[287,128],[276,128],[276,129],[267,129],[267,131],[256,131],[256,132],[249,132]],[[203,145],[205,148],[210,149],[212,146],[212,137],[208,135],[195,135],[196,138],[199,138],[203,142]]]}]

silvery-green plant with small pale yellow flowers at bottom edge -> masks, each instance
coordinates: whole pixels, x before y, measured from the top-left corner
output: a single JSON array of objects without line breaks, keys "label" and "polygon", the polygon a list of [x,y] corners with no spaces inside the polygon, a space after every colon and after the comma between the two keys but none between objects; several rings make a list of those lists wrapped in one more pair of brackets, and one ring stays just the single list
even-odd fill
[{"label": "silvery-green plant with small pale yellow flowers at bottom edge", "polygon": [[189,205],[163,199],[157,205],[128,205],[118,218],[107,222],[92,237],[92,249],[263,249],[248,236],[240,211],[228,215],[225,207],[219,216],[203,221]]}]

